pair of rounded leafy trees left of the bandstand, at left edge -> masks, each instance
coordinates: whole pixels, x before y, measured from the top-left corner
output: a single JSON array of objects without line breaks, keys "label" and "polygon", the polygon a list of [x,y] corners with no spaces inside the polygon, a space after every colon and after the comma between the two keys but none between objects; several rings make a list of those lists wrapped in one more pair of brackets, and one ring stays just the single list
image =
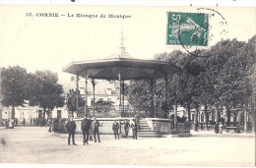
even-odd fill
[{"label": "pair of rounded leafy trees left of the bandstand, at left edge", "polygon": [[[29,105],[38,105],[48,110],[63,106],[63,88],[62,85],[57,84],[56,74],[50,71],[28,74],[25,68],[19,66],[3,68],[1,73],[3,105],[24,106],[25,100],[29,100]],[[13,108],[13,117],[14,113]]]}]

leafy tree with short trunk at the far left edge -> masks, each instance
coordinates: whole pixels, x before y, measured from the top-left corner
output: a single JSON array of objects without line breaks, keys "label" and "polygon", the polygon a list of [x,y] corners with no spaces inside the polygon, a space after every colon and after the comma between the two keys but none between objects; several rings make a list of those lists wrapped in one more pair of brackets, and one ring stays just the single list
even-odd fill
[{"label": "leafy tree with short trunk at the far left edge", "polygon": [[27,98],[27,70],[19,66],[3,68],[1,76],[2,104],[12,107],[12,118],[15,118],[15,107],[23,106]]}]

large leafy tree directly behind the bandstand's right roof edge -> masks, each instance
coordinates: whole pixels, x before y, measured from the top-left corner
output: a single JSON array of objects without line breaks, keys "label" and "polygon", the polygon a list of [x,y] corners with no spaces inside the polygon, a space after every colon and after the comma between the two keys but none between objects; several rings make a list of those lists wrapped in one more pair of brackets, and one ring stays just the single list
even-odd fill
[{"label": "large leafy tree directly behind the bandstand's right roof edge", "polygon": [[[181,105],[188,109],[188,119],[190,124],[190,105],[197,101],[193,97],[198,96],[198,76],[201,73],[202,67],[197,62],[196,57],[192,57],[189,54],[182,53],[179,50],[174,50],[171,53],[161,53],[156,56],[157,60],[167,60],[169,68],[175,65],[180,68],[180,72],[173,74],[168,73],[168,84],[167,84],[167,98],[168,106],[173,106],[174,109],[174,123],[177,123],[177,106]],[[162,88],[161,85],[158,85]],[[163,94],[161,90],[161,94]],[[195,120],[197,122],[197,120]],[[195,124],[196,125],[196,124]]]}]

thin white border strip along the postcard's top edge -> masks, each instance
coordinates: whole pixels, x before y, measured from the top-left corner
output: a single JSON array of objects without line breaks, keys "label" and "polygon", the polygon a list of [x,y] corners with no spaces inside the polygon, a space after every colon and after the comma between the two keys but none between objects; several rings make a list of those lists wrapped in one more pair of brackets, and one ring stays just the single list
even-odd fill
[{"label": "thin white border strip along the postcard's top edge", "polygon": [[255,0],[0,0],[0,4],[256,7]]}]

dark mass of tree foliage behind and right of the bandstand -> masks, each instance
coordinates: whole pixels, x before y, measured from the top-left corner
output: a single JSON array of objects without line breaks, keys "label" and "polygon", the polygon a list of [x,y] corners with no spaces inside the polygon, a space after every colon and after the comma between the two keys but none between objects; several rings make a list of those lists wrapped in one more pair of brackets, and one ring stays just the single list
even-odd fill
[{"label": "dark mass of tree foliage behind and right of the bandstand", "polygon": [[[160,53],[156,60],[167,61],[168,104],[164,103],[164,78],[156,84],[157,106],[171,109],[174,104],[187,107],[200,105],[245,106],[256,94],[256,35],[248,42],[226,39],[210,49],[199,52],[199,57],[174,50]],[[203,56],[203,57],[200,57]],[[172,72],[171,66],[180,68]],[[151,110],[151,85],[148,81],[132,82],[129,102],[138,110]]]}]

